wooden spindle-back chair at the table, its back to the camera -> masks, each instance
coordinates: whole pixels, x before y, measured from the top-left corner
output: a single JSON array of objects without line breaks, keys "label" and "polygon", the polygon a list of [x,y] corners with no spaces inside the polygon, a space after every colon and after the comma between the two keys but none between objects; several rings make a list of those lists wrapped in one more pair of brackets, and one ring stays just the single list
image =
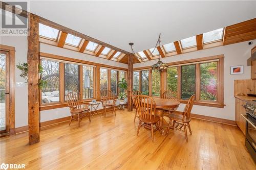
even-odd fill
[{"label": "wooden spindle-back chair at the table, its back to the camera", "polygon": [[[135,105],[137,112],[139,114],[139,126],[137,130],[137,135],[139,135],[139,130],[141,123],[148,124],[151,126],[151,138],[154,143],[154,132],[159,130],[161,133],[160,127],[160,117],[156,116],[156,103],[154,99],[147,95],[136,95],[135,96]],[[154,129],[153,125],[156,126]]]}]

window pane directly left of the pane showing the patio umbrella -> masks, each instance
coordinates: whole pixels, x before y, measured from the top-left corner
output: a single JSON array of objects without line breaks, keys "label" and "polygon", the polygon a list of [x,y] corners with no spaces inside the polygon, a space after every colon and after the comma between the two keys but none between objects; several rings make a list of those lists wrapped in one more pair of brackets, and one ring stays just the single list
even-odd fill
[{"label": "window pane directly left of the pane showing the patio umbrella", "polygon": [[65,63],[65,99],[71,91],[79,91],[78,65]]}]

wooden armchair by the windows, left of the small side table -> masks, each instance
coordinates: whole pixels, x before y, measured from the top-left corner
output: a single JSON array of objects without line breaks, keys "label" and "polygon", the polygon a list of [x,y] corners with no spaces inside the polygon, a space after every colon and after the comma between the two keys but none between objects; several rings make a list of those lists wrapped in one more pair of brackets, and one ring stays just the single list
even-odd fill
[{"label": "wooden armchair by the windows, left of the small side table", "polygon": [[[82,119],[82,117],[84,116],[88,116],[89,121],[91,122],[91,117],[89,113],[90,111],[89,103],[82,101],[82,96],[78,91],[72,91],[68,93],[67,103],[71,113],[69,125],[74,119],[78,121],[78,127],[80,127],[80,121],[81,121],[80,119]],[[83,112],[86,112],[86,113],[83,113]],[[77,115],[77,117],[74,117],[74,115]]]}]

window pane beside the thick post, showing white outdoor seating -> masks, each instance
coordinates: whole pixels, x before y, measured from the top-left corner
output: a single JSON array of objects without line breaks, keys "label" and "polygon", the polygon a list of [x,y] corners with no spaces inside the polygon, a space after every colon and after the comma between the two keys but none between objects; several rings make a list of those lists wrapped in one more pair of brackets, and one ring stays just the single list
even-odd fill
[{"label": "window pane beside the thick post, showing white outdoor seating", "polygon": [[41,102],[59,102],[59,62],[41,60],[41,66],[44,69],[41,78],[47,82],[41,90]]}]

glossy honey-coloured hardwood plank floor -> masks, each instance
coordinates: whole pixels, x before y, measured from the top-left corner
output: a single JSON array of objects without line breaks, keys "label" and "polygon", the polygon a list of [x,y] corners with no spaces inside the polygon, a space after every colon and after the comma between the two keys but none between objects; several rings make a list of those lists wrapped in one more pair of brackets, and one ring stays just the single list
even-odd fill
[{"label": "glossy honey-coloured hardwood plank floor", "polygon": [[255,169],[238,127],[192,119],[188,142],[182,132],[162,136],[140,128],[134,112],[83,119],[40,131],[29,145],[28,133],[1,138],[1,162],[25,163],[26,169]]}]

